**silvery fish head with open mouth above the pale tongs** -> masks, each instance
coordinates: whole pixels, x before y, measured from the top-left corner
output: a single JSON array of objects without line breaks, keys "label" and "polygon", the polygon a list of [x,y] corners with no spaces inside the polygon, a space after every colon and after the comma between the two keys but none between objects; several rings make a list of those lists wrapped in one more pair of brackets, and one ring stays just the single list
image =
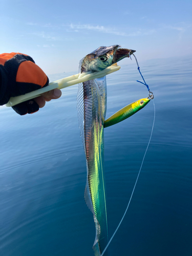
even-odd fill
[{"label": "silvery fish head with open mouth above the pale tongs", "polygon": [[109,47],[101,46],[81,60],[81,73],[104,70],[117,61],[125,57],[130,57],[134,52],[135,50],[122,49],[119,45]]}]

